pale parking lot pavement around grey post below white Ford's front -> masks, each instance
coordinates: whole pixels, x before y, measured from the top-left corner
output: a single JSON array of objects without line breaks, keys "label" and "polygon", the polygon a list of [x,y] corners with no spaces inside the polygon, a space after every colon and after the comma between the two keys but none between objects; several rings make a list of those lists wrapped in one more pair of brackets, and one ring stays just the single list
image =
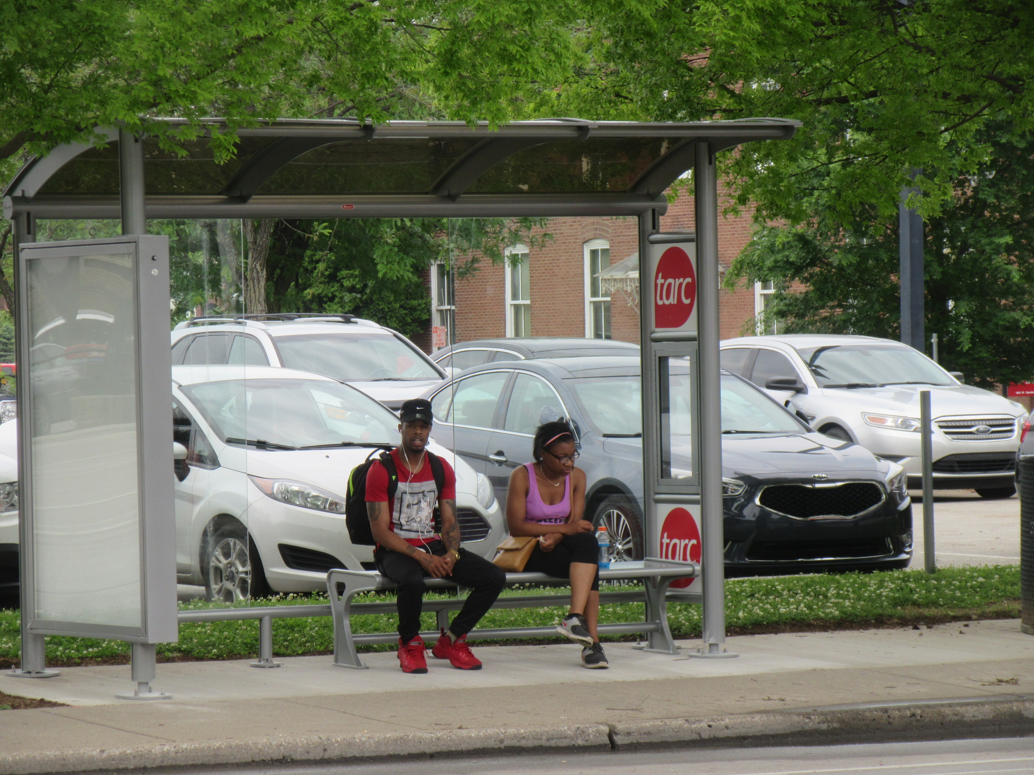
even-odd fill
[{"label": "pale parking lot pavement around grey post below white Ford's front", "polygon": [[[913,491],[912,567],[922,567],[922,493]],[[985,500],[972,490],[941,490],[934,494],[937,564],[1020,564],[1020,498]]]}]

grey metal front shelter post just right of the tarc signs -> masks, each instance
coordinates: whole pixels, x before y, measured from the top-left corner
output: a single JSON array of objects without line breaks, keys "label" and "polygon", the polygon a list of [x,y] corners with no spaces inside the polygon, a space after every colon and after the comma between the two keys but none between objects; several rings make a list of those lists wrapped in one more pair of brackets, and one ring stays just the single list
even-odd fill
[{"label": "grey metal front shelter post just right of the tarc signs", "polygon": [[707,143],[697,143],[693,172],[697,235],[699,321],[700,512],[703,648],[695,656],[736,656],[725,651],[725,518],[722,504],[722,384],[719,376],[718,174]]}]

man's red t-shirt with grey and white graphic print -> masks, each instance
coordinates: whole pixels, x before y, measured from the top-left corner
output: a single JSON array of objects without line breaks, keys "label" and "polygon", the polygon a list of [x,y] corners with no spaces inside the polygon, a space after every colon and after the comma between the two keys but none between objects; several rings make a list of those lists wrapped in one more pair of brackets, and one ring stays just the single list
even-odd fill
[{"label": "man's red t-shirt with grey and white graphic print", "polygon": [[[445,487],[439,493],[434,483],[434,472],[424,455],[423,464],[410,476],[409,469],[402,462],[398,448],[390,455],[398,471],[398,488],[395,497],[388,498],[388,469],[379,460],[373,462],[366,472],[366,502],[388,502],[391,514],[391,529],[399,537],[404,538],[415,547],[430,544],[437,536],[434,534],[434,506],[439,499],[456,499],[456,472],[448,461],[442,461],[445,470]],[[412,460],[412,457],[410,457]],[[416,462],[416,461],[414,461]]]}]

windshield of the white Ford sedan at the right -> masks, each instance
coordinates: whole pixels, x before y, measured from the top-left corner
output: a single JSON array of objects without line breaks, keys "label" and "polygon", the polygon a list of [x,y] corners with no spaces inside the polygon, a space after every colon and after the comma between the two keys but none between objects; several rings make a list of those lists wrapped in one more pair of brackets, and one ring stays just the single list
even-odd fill
[{"label": "windshield of the white Ford sedan at the right", "polygon": [[797,352],[819,388],[954,384],[933,361],[900,344],[835,344]]}]

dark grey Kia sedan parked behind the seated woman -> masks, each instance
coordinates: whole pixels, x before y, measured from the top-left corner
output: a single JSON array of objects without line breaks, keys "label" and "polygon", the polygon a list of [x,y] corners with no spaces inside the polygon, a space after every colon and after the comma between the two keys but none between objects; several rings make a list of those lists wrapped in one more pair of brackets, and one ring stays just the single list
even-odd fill
[{"label": "dark grey Kia sedan parked behind the seated woman", "polygon": [[[476,366],[427,394],[432,436],[488,476],[505,504],[510,473],[531,460],[536,426],[569,417],[587,478],[585,518],[607,525],[620,557],[640,559],[639,368],[638,358],[616,355]],[[728,372],[722,430],[730,576],[908,566],[912,508],[901,466],[813,431]]]}]

